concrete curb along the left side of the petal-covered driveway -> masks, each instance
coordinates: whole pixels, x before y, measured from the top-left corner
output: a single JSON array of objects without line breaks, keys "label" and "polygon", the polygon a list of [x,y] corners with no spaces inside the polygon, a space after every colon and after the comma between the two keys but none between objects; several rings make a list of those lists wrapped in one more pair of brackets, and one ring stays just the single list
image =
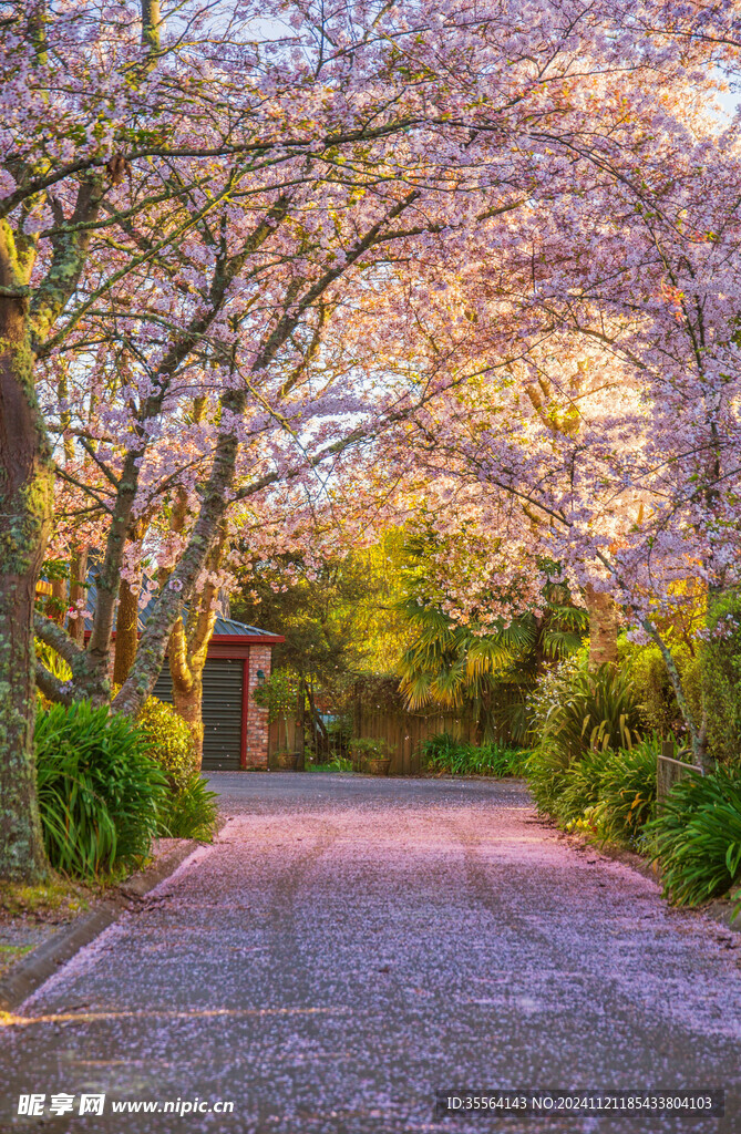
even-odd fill
[{"label": "concrete curb along the left side of the petal-covered driveway", "polygon": [[70,960],[85,945],[90,945],[104,929],[112,925],[132,902],[143,898],[155,886],[174,874],[180,863],[185,862],[196,847],[210,845],[196,843],[195,839],[184,840],[180,846],[175,847],[169,854],[165,854],[161,862],[154,862],[146,870],[132,874],[118,888],[115,898],[101,902],[87,913],[79,914],[74,922],[64,925],[33,953],[17,960],[10,972],[0,981],[0,1010],[15,1012],[61,965]]}]

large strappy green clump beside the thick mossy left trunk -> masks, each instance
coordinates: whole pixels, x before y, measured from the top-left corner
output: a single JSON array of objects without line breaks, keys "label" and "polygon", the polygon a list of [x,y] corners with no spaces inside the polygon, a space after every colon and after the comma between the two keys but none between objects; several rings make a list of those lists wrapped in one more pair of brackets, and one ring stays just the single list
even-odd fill
[{"label": "large strappy green clump beside the thick mossy left trunk", "polygon": [[86,701],[41,711],[36,773],[54,869],[92,878],[149,854],[167,784],[127,717]]}]

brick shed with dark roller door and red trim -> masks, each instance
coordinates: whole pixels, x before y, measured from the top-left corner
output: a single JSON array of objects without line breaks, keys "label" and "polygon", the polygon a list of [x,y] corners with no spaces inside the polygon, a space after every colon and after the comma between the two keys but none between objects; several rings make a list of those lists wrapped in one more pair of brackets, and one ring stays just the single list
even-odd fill
[{"label": "brick shed with dark roller door and red trim", "polygon": [[[86,636],[95,609],[94,578],[87,592]],[[154,599],[140,611],[140,633]],[[116,635],[113,635],[115,637]],[[268,767],[268,713],[255,704],[254,689],[270,676],[272,648],[285,638],[258,626],[219,616],[203,668],[203,769],[238,771]],[[152,693],[172,703],[167,658]]]}]

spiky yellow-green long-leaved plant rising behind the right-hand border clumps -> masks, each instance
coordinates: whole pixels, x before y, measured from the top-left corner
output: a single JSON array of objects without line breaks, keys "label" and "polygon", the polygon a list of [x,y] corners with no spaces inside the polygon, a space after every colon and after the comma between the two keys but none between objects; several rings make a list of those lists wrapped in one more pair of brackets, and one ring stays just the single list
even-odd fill
[{"label": "spiky yellow-green long-leaved plant rising behind the right-hand border clumps", "polygon": [[611,666],[567,669],[559,687],[549,691],[547,706],[533,704],[536,721],[540,745],[569,760],[590,751],[631,747],[645,730],[630,676]]}]

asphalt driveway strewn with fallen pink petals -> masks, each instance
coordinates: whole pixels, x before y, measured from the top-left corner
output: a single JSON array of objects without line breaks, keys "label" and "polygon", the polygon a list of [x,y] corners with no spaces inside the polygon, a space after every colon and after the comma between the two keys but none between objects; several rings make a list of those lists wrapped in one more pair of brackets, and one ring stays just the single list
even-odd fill
[{"label": "asphalt driveway strewn with fallen pink petals", "polygon": [[[0,1030],[0,1128],[741,1132],[741,937],[540,823],[516,782],[213,777],[219,843]],[[435,1119],[437,1090],[726,1091],[725,1118]],[[20,1092],[106,1093],[18,1117]],[[112,1114],[234,1102],[234,1114]]]}]

